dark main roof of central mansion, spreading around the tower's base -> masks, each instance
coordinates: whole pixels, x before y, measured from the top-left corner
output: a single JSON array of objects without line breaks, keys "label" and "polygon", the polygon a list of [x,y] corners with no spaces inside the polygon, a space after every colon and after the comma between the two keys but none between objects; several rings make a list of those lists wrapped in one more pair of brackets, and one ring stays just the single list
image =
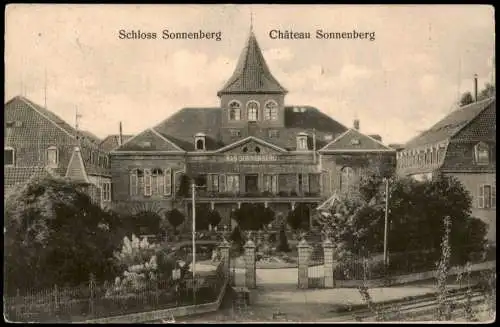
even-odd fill
[{"label": "dark main roof of central mansion, spreading around the tower's base", "polygon": [[[184,108],[153,129],[186,151],[194,150],[196,133],[206,135],[207,150],[217,150],[248,136],[255,136],[279,147],[294,150],[296,137],[300,132],[309,134],[309,147],[312,149],[312,134],[315,131],[316,148],[319,149],[327,143],[324,136],[330,135],[333,139],[347,130],[347,127],[314,107],[287,106],[284,128],[262,128],[257,125],[250,132],[248,127],[244,127],[240,128],[239,137],[233,137],[231,130],[235,128],[221,128],[222,112],[221,108]],[[278,135],[270,137],[269,129],[277,130]]]}]

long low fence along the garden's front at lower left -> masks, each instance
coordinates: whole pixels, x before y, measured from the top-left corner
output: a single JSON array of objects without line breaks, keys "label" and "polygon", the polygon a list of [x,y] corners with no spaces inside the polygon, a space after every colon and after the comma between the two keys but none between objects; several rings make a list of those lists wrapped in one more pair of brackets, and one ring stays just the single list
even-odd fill
[{"label": "long low fence along the garden's front at lower left", "polygon": [[[215,268],[215,267],[214,267]],[[215,302],[226,279],[224,259],[212,271],[184,277],[132,280],[52,289],[18,291],[5,297],[6,317],[14,322],[77,322],[193,304]]]}]

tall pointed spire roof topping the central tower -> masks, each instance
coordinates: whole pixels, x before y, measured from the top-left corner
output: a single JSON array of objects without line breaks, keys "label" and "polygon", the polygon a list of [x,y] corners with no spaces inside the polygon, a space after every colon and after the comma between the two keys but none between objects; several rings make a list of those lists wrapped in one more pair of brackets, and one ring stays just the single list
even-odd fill
[{"label": "tall pointed spire roof topping the central tower", "polygon": [[271,74],[253,31],[250,32],[233,75],[217,95],[230,93],[287,93]]}]

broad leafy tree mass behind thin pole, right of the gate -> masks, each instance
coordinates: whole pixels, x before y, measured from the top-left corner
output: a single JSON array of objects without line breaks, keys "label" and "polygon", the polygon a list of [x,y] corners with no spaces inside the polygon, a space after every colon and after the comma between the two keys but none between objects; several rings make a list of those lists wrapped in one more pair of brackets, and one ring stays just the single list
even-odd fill
[{"label": "broad leafy tree mass behind thin pole, right of the gate", "polygon": [[[366,194],[357,198],[341,198],[327,217],[316,220],[323,230],[333,233],[336,244],[349,253],[379,253],[384,243],[385,196],[383,181],[367,178]],[[378,190],[378,191],[377,191]],[[361,192],[362,193],[362,192]],[[408,249],[427,250],[428,261],[439,259],[444,228],[443,217],[452,220],[450,246],[452,263],[462,264],[480,253],[485,246],[486,225],[471,216],[471,198],[463,185],[452,177],[438,176],[429,181],[392,178],[389,188],[390,253],[406,253]],[[467,240],[464,244],[463,240]],[[416,255],[416,254],[415,254]],[[408,255],[404,258],[408,260]],[[397,260],[391,256],[391,264]]]}]

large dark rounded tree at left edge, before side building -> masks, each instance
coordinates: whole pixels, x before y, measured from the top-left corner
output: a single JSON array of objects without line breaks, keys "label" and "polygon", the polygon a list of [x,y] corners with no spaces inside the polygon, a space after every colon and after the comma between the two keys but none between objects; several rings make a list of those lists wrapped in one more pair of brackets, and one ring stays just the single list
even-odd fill
[{"label": "large dark rounded tree at left edge, before side building", "polygon": [[113,276],[111,258],[124,236],[120,217],[92,203],[80,185],[31,179],[9,194],[4,214],[8,291]]}]

